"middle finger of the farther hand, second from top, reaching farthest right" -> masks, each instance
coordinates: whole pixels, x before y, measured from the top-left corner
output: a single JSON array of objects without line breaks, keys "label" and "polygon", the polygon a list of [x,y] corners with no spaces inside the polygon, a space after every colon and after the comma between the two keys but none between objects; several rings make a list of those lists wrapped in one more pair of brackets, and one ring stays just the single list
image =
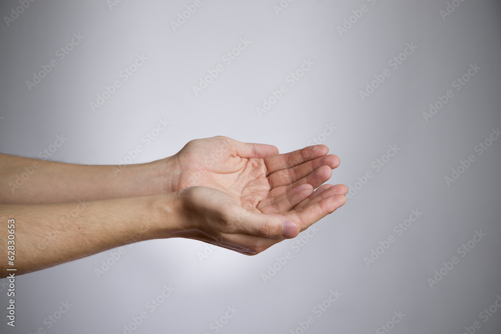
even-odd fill
[{"label": "middle finger of the farther hand, second from top, reaching farthest right", "polygon": [[329,166],[331,169],[339,166],[339,158],[334,154],[329,154],[314,160],[302,163],[301,165],[279,170],[268,176],[271,189],[294,183],[316,170],[321,166]]}]

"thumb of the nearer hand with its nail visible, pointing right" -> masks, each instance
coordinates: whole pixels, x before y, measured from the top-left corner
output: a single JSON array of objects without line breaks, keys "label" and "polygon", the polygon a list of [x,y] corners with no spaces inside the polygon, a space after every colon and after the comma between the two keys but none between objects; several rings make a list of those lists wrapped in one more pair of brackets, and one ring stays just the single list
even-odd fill
[{"label": "thumb of the nearer hand with its nail visible, pointing right", "polygon": [[298,224],[286,216],[246,211],[242,233],[265,238],[295,238],[300,230]]}]

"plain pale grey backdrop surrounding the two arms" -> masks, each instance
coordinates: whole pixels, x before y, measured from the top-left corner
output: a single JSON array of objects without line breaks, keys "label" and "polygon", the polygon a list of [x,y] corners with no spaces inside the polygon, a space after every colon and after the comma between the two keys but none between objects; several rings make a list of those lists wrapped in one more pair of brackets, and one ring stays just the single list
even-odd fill
[{"label": "plain pale grey backdrop surrounding the two arms", "polygon": [[[118,164],[165,117],[168,129],[134,163],[214,135],[283,153],[318,138],[341,158],[331,183],[355,187],[367,171],[374,177],[297,252],[306,232],[258,256],[216,248],[203,261],[201,242],[155,240],[126,247],[99,278],[109,251],[20,276],[17,326],[2,315],[0,331],[124,333],[146,311],[133,333],[213,333],[211,323],[235,306],[218,332],[301,333],[299,322],[313,316],[305,332],[378,333],[401,311],[390,332],[460,334],[479,321],[477,333],[500,333],[501,309],[485,322],[480,312],[501,295],[501,140],[481,156],[474,148],[501,126],[501,4],[466,0],[443,20],[444,0],[298,0],[279,15],[279,0],[201,1],[175,32],[170,22],[193,1],[123,0],[111,9],[105,0],[36,1],[9,27],[2,20],[0,152],[38,157],[63,134],[51,160]],[[338,26],[362,5],[367,12],[340,36]],[[3,1],[0,15],[18,6]],[[56,51],[74,33],[85,39],[60,61]],[[192,86],[245,37],[252,43],[195,96]],[[417,49],[391,69],[406,43]],[[146,63],[93,112],[90,102],[137,54]],[[30,92],[26,81],[51,59],[58,66]],[[260,117],[256,107],[304,59],[311,70]],[[475,63],[478,73],[426,122],[429,104]],[[384,69],[390,77],[362,101],[359,91]],[[326,123],[337,129],[324,137]],[[394,144],[400,151],[376,171],[373,161]],[[444,177],[470,154],[476,161],[448,186]],[[393,228],[411,209],[423,214],[398,236]],[[480,230],[486,235],[460,257],[457,248]],[[364,257],[390,235],[395,242],[368,267]],[[287,251],[292,258],[265,283],[262,273]],[[428,278],[452,256],[459,263],[431,288]],[[150,312],[164,284],[175,291]],[[331,289],[341,295],[318,317],[314,307]],[[0,295],[4,314],[5,285]],[[72,306],[48,328],[44,319],[66,300]]]}]

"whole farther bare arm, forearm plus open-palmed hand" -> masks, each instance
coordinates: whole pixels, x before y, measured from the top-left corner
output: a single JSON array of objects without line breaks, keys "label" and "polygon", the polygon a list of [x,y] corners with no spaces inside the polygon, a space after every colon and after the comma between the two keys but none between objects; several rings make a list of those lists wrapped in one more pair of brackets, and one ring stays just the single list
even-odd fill
[{"label": "whole farther bare arm, forearm plus open-palmed hand", "polygon": [[[136,165],[78,165],[0,154],[0,204],[55,204],[159,195],[208,186],[235,196],[256,188],[268,205],[294,188],[327,181],[339,158],[316,145],[279,154],[272,145],[226,137],[196,139],[177,154]],[[254,182],[254,183],[253,183]],[[228,186],[231,185],[231,189]],[[246,189],[247,188],[247,189]]]}]

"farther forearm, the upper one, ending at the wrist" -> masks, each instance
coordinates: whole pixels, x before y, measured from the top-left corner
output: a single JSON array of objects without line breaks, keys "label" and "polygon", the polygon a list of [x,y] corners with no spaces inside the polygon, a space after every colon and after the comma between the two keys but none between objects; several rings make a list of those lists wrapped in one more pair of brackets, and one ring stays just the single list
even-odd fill
[{"label": "farther forearm, the upper one, ending at the wrist", "polygon": [[146,164],[78,165],[0,154],[0,204],[54,204],[166,192],[169,158]]}]

